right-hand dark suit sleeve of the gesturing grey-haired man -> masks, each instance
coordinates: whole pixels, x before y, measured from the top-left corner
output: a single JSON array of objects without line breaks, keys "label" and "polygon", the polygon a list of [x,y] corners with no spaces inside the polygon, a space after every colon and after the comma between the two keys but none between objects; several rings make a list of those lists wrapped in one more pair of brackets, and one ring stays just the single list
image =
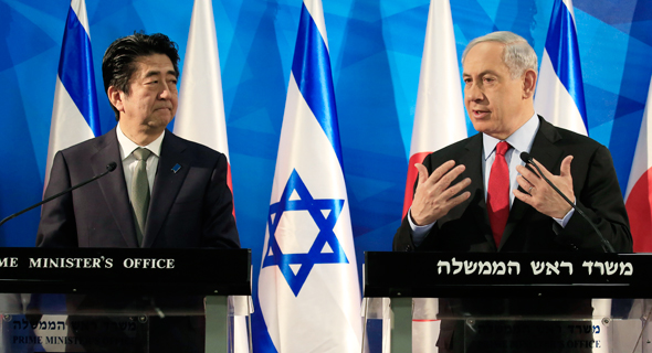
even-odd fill
[{"label": "right-hand dark suit sleeve of the gesturing grey-haired man", "polygon": [[[590,160],[585,184],[576,195],[576,206],[600,229],[617,253],[632,252],[632,235],[622,193],[609,150],[600,146]],[[602,242],[577,212],[562,229],[556,228],[561,242],[585,250],[602,252]]]}]

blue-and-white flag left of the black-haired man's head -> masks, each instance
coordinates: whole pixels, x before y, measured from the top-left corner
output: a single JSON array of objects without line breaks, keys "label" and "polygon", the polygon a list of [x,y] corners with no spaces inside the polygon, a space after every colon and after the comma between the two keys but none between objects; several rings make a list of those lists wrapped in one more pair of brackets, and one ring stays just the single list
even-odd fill
[{"label": "blue-and-white flag left of the black-haired man's head", "polygon": [[45,188],[57,151],[101,135],[91,32],[84,0],[72,0],[65,21],[48,145]]}]

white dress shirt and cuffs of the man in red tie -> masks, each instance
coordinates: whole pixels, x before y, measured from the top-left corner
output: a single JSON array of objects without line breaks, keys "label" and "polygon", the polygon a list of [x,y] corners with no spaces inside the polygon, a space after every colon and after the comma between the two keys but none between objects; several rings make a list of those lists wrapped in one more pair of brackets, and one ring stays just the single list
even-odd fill
[{"label": "white dress shirt and cuffs of the man in red tie", "polygon": [[[525,122],[518,130],[514,131],[509,137],[505,139],[507,143],[509,143],[511,148],[505,153],[505,160],[507,165],[509,165],[509,190],[518,189],[518,182],[516,182],[516,176],[519,175],[516,172],[516,165],[525,165],[525,162],[520,160],[522,152],[528,152],[532,149],[532,143],[534,142],[534,138],[539,130],[539,118],[537,117],[536,113]],[[483,175],[483,183],[484,183],[484,200],[486,201],[486,193],[488,186],[488,178],[490,173],[487,171],[492,170],[492,165],[494,164],[494,160],[496,159],[496,145],[498,145],[501,140],[491,137],[486,133],[482,135],[482,175]],[[488,153],[487,153],[488,151]],[[435,165],[433,165],[435,167]],[[509,192],[509,210],[512,208],[512,204],[514,204],[514,193]],[[411,210],[411,208],[410,208]],[[564,218],[553,218],[555,220],[561,227],[565,227],[572,216],[575,210],[570,208],[570,211],[566,214]],[[412,228],[412,240],[414,242],[416,246],[421,245],[423,239],[428,235],[428,232],[434,226],[433,222],[431,224],[418,226],[414,224],[412,220],[412,215],[408,212],[408,222],[410,223],[410,227]]]}]

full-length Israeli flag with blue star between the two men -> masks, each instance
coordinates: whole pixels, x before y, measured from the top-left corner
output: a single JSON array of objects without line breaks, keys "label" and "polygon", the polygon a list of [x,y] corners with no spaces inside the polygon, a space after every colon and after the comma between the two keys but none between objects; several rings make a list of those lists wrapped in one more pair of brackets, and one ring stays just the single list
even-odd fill
[{"label": "full-length Israeli flag with blue star between the two men", "polygon": [[305,0],[259,278],[273,346],[360,352],[360,290],[320,0]]}]

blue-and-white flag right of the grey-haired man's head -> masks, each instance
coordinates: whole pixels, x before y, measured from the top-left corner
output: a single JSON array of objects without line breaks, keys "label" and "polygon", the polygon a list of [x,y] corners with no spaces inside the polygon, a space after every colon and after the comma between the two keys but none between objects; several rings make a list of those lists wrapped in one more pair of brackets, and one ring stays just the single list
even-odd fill
[{"label": "blue-and-white flag right of the grey-haired man's head", "polygon": [[535,110],[553,125],[588,136],[585,87],[571,0],[555,0],[541,57]]}]

